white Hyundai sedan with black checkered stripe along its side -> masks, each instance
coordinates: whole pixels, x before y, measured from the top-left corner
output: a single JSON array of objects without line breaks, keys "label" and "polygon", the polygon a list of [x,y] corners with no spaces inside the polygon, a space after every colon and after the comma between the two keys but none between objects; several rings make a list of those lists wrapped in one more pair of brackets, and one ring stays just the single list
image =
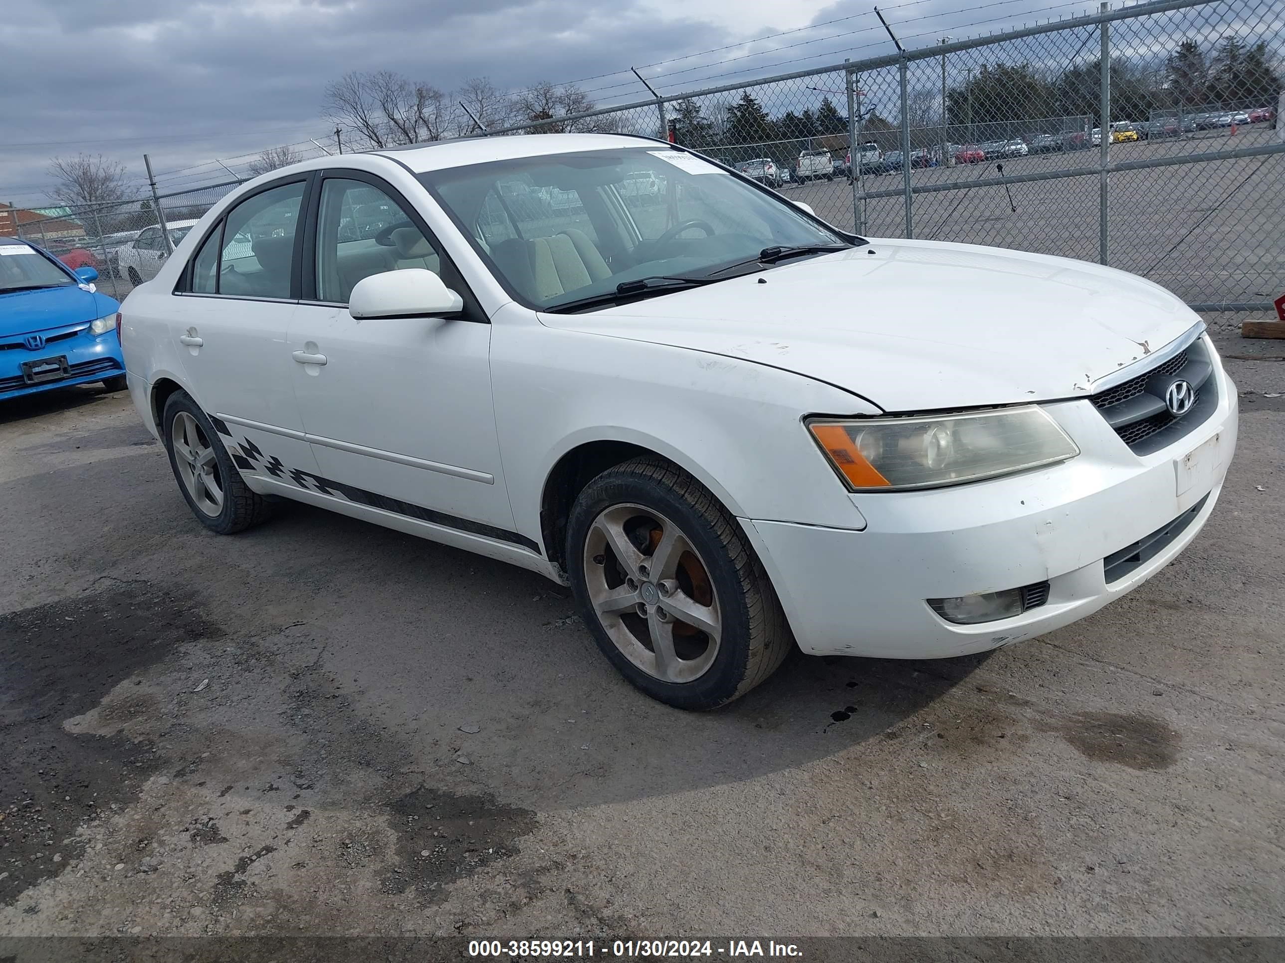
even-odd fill
[{"label": "white Hyundai sedan with black checkered stripe along its side", "polygon": [[1195,538],[1236,443],[1150,281],[856,238],[628,136],[274,171],[121,331],[207,528],[285,497],[532,569],[685,709],[794,645],[933,659],[1083,618]]}]

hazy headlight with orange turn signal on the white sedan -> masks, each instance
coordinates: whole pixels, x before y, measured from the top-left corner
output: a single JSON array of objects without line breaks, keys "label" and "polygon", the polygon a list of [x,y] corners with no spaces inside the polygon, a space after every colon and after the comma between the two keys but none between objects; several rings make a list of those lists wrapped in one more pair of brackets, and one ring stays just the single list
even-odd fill
[{"label": "hazy headlight with orange turn signal on the white sedan", "polygon": [[1040,407],[965,415],[815,419],[808,430],[853,492],[960,485],[1079,455]]}]

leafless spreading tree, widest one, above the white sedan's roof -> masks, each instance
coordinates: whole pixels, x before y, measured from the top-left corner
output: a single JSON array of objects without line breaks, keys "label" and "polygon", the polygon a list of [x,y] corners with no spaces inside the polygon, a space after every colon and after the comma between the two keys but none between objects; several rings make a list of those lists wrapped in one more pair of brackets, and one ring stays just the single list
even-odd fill
[{"label": "leafless spreading tree, widest one, above the white sedan's roof", "polygon": [[326,117],[359,144],[387,148],[441,140],[451,121],[446,95],[393,71],[353,71],[325,89]]}]

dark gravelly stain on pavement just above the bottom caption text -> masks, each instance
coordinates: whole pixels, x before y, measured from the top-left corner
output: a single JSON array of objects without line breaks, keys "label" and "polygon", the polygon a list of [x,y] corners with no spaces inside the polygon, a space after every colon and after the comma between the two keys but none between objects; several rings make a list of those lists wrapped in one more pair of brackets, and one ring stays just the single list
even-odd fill
[{"label": "dark gravelly stain on pavement just above the bottom caption text", "polygon": [[506,806],[491,796],[468,796],[419,787],[384,808],[397,833],[400,864],[384,873],[384,892],[414,889],[439,901],[456,880],[518,854],[519,836],[536,826],[529,809]]}]

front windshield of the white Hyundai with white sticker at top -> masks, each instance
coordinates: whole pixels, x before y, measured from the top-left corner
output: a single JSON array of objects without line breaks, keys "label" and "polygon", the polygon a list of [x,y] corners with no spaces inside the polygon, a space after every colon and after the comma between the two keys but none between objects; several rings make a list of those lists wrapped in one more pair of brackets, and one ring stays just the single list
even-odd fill
[{"label": "front windshield of the white Hyundai with white sticker at top", "polygon": [[[703,158],[660,145],[496,160],[420,181],[505,288],[556,308],[642,277],[704,279],[765,248],[847,240]],[[720,275],[722,277],[722,275]]]}]

